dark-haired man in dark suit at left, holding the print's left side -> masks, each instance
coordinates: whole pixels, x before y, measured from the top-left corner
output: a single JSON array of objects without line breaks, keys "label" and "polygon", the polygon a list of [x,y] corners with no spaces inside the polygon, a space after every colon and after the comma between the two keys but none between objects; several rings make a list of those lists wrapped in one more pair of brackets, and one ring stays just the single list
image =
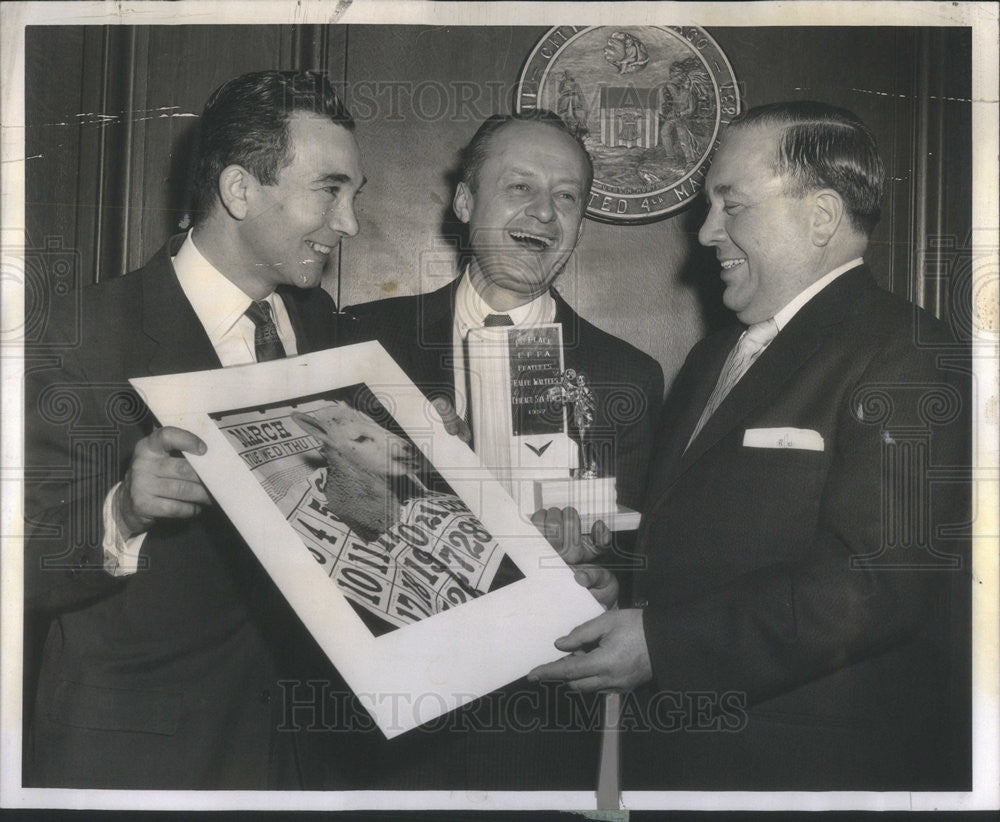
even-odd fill
[{"label": "dark-haired man in dark suit at left, holding the print's left side", "polygon": [[318,74],[220,87],[194,229],[86,289],[82,343],[29,379],[25,599],[51,627],[28,784],[299,785],[276,684],[304,629],[183,459],[204,443],[156,428],[127,380],[333,344],[318,286],[358,230],[353,130]]}]

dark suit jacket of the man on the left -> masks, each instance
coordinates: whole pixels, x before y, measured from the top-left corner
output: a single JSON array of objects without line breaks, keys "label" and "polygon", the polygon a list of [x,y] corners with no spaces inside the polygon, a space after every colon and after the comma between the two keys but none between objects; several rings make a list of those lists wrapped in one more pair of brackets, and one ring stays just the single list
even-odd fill
[{"label": "dark suit jacket of the man on the left", "polygon": [[[29,375],[25,597],[53,616],[31,784],[298,784],[289,735],[275,731],[275,649],[305,632],[225,515],[210,508],[154,526],[134,576],[101,567],[101,504],[154,424],[127,378],[220,367],[170,246],[85,289],[82,343],[61,366]],[[279,292],[300,353],[333,344],[325,292]]]}]

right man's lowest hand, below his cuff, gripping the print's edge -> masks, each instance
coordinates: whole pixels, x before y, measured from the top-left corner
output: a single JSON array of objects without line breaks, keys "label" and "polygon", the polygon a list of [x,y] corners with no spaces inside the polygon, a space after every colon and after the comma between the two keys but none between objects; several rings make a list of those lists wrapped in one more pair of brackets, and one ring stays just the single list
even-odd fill
[{"label": "right man's lowest hand, below his cuff, gripping the print's edge", "polygon": [[[584,646],[597,647],[583,653]],[[642,611],[608,611],[556,640],[560,651],[580,652],[528,672],[529,681],[561,679],[578,691],[628,691],[653,678]]]}]

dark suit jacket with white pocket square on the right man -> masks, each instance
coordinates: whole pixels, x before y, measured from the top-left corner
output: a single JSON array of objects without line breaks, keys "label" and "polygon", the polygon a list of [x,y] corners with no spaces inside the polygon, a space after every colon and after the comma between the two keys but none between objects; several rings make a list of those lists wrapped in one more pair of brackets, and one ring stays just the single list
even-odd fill
[{"label": "dark suit jacket with white pocket square on the right man", "polygon": [[[664,409],[636,603],[659,696],[645,694],[652,730],[627,740],[625,787],[957,787],[967,351],[856,268],[792,318],[685,452],[739,331],[694,347]],[[743,445],[748,429],[785,427],[818,432],[823,450]]]}]

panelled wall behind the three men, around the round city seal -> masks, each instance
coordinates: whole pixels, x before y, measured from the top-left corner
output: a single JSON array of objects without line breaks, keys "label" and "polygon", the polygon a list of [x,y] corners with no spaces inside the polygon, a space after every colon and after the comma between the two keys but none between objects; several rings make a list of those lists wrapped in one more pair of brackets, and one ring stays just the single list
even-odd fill
[{"label": "panelled wall behind the three men, around the round city seal", "polygon": [[[361,235],[326,287],[341,305],[453,276],[456,152],[510,110],[546,29],[425,26],[32,27],[27,32],[28,244],[71,261],[76,284],[139,266],[188,224],[187,178],[208,94],[266,68],[343,81],[371,180]],[[971,225],[968,29],[713,28],[744,106],[815,98],[857,112],[889,167],[869,260],[882,284],[947,313],[941,254]],[[37,156],[36,156],[37,155]],[[730,321],[700,207],[643,226],[587,222],[558,283],[585,317],[657,357],[668,384],[690,346]],[[68,254],[67,254],[68,252]],[[30,296],[29,296],[30,299]]]}]

